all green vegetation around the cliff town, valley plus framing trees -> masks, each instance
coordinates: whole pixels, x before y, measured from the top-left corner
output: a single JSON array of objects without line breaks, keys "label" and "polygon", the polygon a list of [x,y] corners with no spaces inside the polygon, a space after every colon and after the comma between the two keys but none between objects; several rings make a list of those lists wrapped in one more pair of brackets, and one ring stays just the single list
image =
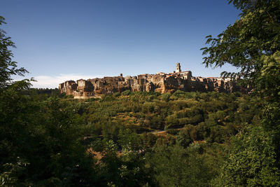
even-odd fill
[{"label": "all green vegetation around the cliff town, valley plus framing trees", "polygon": [[[240,67],[251,95],[30,89],[0,30],[1,186],[280,186],[280,1],[230,1],[204,63]],[[4,19],[0,17],[0,25]]]}]

